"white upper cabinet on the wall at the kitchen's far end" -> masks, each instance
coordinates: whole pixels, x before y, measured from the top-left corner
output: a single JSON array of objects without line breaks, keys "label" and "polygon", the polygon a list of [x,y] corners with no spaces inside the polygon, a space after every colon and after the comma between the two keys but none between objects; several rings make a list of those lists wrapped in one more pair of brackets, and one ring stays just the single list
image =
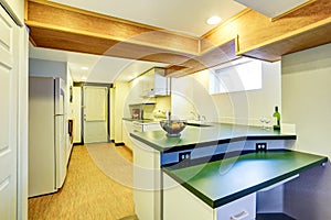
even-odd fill
[{"label": "white upper cabinet on the wall at the kitchen's far end", "polygon": [[154,67],[142,76],[142,96],[170,96],[170,78],[164,77],[164,69]]}]

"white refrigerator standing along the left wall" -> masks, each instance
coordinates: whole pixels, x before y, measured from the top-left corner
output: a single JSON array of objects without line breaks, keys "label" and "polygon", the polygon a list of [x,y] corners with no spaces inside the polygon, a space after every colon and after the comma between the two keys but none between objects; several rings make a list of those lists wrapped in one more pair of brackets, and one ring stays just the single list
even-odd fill
[{"label": "white refrigerator standing along the left wall", "polygon": [[57,191],[66,176],[65,87],[29,78],[29,197]]}]

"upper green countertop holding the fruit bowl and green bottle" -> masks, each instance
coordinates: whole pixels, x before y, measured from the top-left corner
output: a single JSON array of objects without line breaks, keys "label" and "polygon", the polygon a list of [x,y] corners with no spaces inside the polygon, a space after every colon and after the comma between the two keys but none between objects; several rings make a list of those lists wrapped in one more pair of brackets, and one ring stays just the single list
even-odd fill
[{"label": "upper green countertop holding the fruit bowl and green bottle", "polygon": [[263,130],[260,127],[223,123],[213,123],[211,127],[188,125],[181,132],[180,138],[168,138],[163,130],[134,132],[130,135],[160,152],[180,151],[243,140],[296,140],[296,135],[282,134],[274,130]]}]

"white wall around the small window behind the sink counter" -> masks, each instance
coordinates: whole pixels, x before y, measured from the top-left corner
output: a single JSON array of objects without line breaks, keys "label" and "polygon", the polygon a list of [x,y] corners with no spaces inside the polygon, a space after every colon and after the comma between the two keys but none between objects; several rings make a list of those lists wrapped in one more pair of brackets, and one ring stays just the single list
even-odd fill
[{"label": "white wall around the small window behind the sink counter", "polygon": [[173,79],[172,112],[192,118],[190,111],[206,116],[209,121],[260,124],[275,106],[281,112],[280,62],[263,63],[263,88],[258,90],[209,95],[209,70]]}]

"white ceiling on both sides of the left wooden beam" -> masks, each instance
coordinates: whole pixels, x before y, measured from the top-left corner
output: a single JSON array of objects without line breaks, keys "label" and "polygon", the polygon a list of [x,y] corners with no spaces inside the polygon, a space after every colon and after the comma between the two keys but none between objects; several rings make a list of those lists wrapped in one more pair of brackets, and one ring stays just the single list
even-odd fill
[{"label": "white ceiling on both sides of the left wooden beam", "polygon": [[[53,1],[194,36],[201,36],[215,28],[215,25],[206,24],[205,21],[210,16],[218,15],[225,21],[245,9],[244,6],[233,0]],[[166,66],[164,64],[36,48],[33,46],[30,46],[30,57],[67,62],[75,81],[86,80],[92,82],[127,81],[132,78],[132,74],[135,73],[141,74],[153,66]],[[89,69],[81,69],[83,66]],[[82,79],[83,76],[87,79]]]}]

